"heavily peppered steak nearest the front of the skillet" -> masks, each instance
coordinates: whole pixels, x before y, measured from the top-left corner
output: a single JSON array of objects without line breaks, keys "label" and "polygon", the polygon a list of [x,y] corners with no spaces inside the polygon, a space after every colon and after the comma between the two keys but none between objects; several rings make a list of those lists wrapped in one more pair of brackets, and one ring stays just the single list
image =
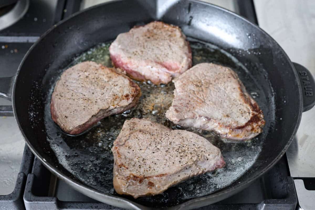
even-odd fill
[{"label": "heavily peppered steak nearest the front of the skillet", "polygon": [[114,188],[134,198],[160,194],[225,165],[220,149],[207,139],[146,119],[126,120],[112,152]]}]

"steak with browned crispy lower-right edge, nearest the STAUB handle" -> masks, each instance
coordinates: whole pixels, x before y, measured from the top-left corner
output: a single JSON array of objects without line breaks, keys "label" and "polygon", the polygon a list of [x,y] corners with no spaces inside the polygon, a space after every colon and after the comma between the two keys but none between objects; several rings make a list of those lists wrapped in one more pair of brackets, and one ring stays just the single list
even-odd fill
[{"label": "steak with browned crispy lower-right edge, nearest the STAUB handle", "polygon": [[184,127],[247,140],[262,132],[264,115],[228,67],[201,63],[173,80],[174,99],[166,117]]}]

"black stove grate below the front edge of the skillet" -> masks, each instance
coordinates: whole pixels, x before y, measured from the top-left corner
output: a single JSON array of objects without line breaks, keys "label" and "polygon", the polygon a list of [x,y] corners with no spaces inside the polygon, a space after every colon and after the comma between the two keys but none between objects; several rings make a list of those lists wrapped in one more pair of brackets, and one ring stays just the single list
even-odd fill
[{"label": "black stove grate below the front edge of the skillet", "polygon": [[[54,175],[35,158],[32,172],[28,174],[25,186],[26,210],[121,209],[95,201],[73,190],[61,180],[57,182],[54,180]],[[72,201],[61,201],[57,197]],[[293,178],[288,174],[287,160],[284,156],[267,174],[237,195],[199,209],[294,210],[296,204]]]}]

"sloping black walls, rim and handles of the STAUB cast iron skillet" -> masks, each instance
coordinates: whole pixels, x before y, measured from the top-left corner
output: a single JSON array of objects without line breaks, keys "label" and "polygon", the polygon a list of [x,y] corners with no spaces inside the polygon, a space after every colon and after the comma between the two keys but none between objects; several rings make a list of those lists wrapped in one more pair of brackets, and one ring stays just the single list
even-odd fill
[{"label": "sloping black walls, rim and handles of the STAUB cast iron skillet", "polygon": [[[265,134],[261,135],[264,144],[252,167],[231,185],[170,208],[201,207],[244,189],[284,155],[298,129],[302,112],[314,106],[314,79],[303,66],[292,63],[266,32],[237,14],[197,1],[156,5],[155,1],[136,0],[101,4],[75,14],[47,31],[27,52],[14,78],[14,116],[27,145],[58,178],[83,194],[110,205],[148,209],[129,197],[95,190],[62,167],[46,140],[44,99],[50,88],[49,78],[78,53],[97,43],[115,39],[135,24],[160,19],[180,26],[187,37],[212,43],[247,66],[268,102],[263,110],[267,122]],[[255,39],[249,36],[255,36]],[[239,51],[247,53],[237,53]],[[2,78],[0,91],[5,98],[11,98],[9,86],[10,78]],[[31,116],[30,110],[35,110],[35,115],[32,113]]]}]

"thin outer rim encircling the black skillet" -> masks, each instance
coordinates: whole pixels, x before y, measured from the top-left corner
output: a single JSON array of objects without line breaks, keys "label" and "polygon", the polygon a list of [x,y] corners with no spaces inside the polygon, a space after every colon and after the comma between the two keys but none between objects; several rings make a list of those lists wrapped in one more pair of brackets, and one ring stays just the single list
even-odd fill
[{"label": "thin outer rim encircling the black skillet", "polygon": [[[75,188],[76,190],[80,191],[81,193],[83,193],[85,195],[88,195],[88,196],[92,195],[92,197],[94,199],[98,200],[98,201],[104,202],[104,198],[105,198],[106,199],[106,203],[108,203],[110,205],[113,205],[113,206],[119,206],[119,207],[126,207],[126,206],[128,206],[128,207],[132,207],[134,209],[143,209],[143,208],[147,209],[148,207],[143,206],[143,205],[138,204],[138,203],[135,203],[134,201],[130,201],[127,198],[122,198],[122,197],[113,196],[113,195],[106,195],[105,193],[100,193],[96,189],[94,189],[94,188],[92,188],[92,187],[90,187],[90,186],[88,186],[86,184],[77,182],[77,181],[69,178],[64,173],[62,173],[59,169],[54,167],[52,164],[44,161],[43,157],[34,149],[34,147],[31,145],[30,141],[27,139],[25,133],[23,132],[23,129],[22,129],[22,126],[20,125],[20,122],[19,122],[19,119],[18,119],[18,116],[17,116],[17,113],[16,113],[16,108],[15,108],[16,107],[16,104],[15,104],[15,88],[16,88],[17,78],[19,77],[20,70],[21,70],[25,60],[28,58],[28,55],[32,52],[32,50],[35,48],[35,46],[37,46],[37,44],[40,44],[42,39],[44,37],[46,37],[46,35],[49,34],[50,31],[53,31],[55,28],[57,28],[58,26],[62,25],[64,22],[68,21],[69,19],[71,19],[71,18],[73,18],[73,17],[75,17],[75,16],[77,16],[77,15],[79,15],[81,13],[84,13],[84,12],[86,12],[88,10],[94,9],[96,7],[101,7],[101,6],[104,6],[104,5],[108,4],[108,3],[119,2],[119,1],[123,1],[123,0],[115,0],[115,1],[111,1],[111,2],[101,3],[101,4],[97,4],[95,6],[86,8],[84,10],[78,11],[78,12],[70,15],[68,18],[66,18],[64,20],[61,20],[60,22],[58,22],[57,24],[55,24],[54,26],[49,28],[49,30],[47,30],[43,35],[41,35],[39,37],[39,39],[26,52],[25,56],[23,57],[20,65],[18,67],[18,70],[17,70],[15,78],[14,78],[13,88],[12,88],[12,106],[13,106],[13,113],[14,113],[15,121],[16,121],[19,129],[20,129],[20,132],[21,132],[24,140],[26,141],[26,144],[28,145],[28,147],[30,148],[32,153],[43,163],[43,165],[47,169],[49,169],[50,172],[54,173],[54,175],[56,175],[59,179],[65,181],[67,184],[71,185],[73,188]],[[289,145],[291,144],[292,140],[294,139],[295,133],[297,132],[297,129],[299,128],[299,125],[300,125],[300,122],[301,122],[302,105],[303,105],[301,83],[300,83],[298,74],[297,74],[297,72],[295,70],[295,67],[294,67],[292,61],[289,59],[289,56],[285,53],[284,49],[281,48],[281,46],[268,33],[266,33],[266,31],[261,29],[259,26],[253,24],[252,22],[250,22],[246,18],[244,18],[244,17],[242,17],[242,16],[240,16],[240,15],[238,15],[238,14],[236,14],[236,13],[234,13],[234,12],[228,10],[228,9],[224,9],[224,8],[219,7],[217,5],[210,4],[210,3],[205,3],[205,2],[200,2],[200,1],[197,1],[197,0],[188,0],[188,1],[199,3],[199,4],[208,5],[208,6],[211,6],[211,7],[215,8],[215,9],[218,9],[218,10],[221,10],[221,11],[226,12],[228,14],[231,14],[231,15],[235,16],[236,18],[243,20],[244,22],[246,22],[246,24],[251,25],[256,30],[261,31],[264,35],[266,35],[266,37],[268,39],[270,39],[274,43],[276,43],[275,47],[277,47],[279,50],[281,50],[283,55],[284,55],[284,58],[286,60],[288,60],[289,65],[291,66],[291,70],[293,71],[293,74],[295,76],[295,80],[298,83],[298,86],[299,86],[299,90],[298,90],[298,92],[299,92],[299,105],[298,105],[299,106],[299,111],[298,111],[298,119],[296,121],[295,128],[293,130],[292,136],[288,140],[287,144],[284,146],[283,150],[278,154],[278,156],[276,156],[265,168],[261,169],[261,173],[259,173],[259,174],[256,173],[256,175],[254,174],[255,176],[249,177],[248,180],[246,180],[247,182],[243,182],[241,184],[237,184],[236,186],[233,186],[233,187],[231,187],[229,189],[226,189],[226,187],[227,187],[226,186],[225,188],[222,188],[221,190],[218,190],[218,191],[216,191],[216,192],[214,192],[212,194],[209,194],[209,195],[206,195],[206,196],[202,196],[202,197],[193,198],[193,199],[185,201],[185,202],[183,202],[181,204],[169,207],[171,209],[181,209],[181,208],[185,208],[185,207],[186,208],[187,207],[188,208],[193,208],[193,207],[205,206],[205,205],[209,205],[211,203],[214,203],[214,202],[207,202],[206,200],[208,200],[209,198],[213,198],[213,200],[215,200],[214,198],[216,197],[217,201],[223,200],[226,197],[232,196],[232,195],[238,193],[239,191],[243,190],[244,188],[249,186],[249,184],[253,183],[258,177],[260,177],[261,175],[266,173],[284,155],[284,153],[288,149]],[[217,202],[217,201],[215,201],[215,202]],[[200,203],[203,203],[203,204],[202,205],[198,205],[197,204],[197,206],[193,205],[196,202],[200,202]]]}]

